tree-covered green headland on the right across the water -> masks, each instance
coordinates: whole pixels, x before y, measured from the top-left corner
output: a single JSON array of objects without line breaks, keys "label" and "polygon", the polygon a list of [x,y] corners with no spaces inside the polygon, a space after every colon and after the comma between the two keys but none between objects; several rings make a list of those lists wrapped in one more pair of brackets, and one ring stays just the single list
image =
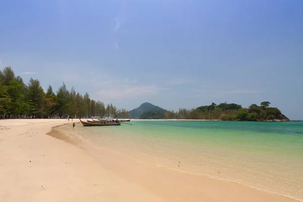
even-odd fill
[{"label": "tree-covered green headland on the right across the water", "polygon": [[212,103],[209,106],[201,106],[195,109],[179,109],[178,112],[168,110],[165,119],[197,119],[197,120],[224,120],[224,121],[270,121],[274,119],[289,120],[277,108],[269,107],[270,102],[262,102],[261,106],[256,104],[248,108],[241,105]]}]

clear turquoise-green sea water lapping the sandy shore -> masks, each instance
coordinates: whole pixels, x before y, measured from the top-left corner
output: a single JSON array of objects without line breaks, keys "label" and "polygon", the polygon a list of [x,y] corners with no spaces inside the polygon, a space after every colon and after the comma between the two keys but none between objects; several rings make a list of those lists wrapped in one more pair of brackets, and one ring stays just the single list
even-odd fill
[{"label": "clear turquoise-green sea water lapping the sandy shore", "polygon": [[128,123],[59,129],[137,161],[303,201],[303,122]]}]

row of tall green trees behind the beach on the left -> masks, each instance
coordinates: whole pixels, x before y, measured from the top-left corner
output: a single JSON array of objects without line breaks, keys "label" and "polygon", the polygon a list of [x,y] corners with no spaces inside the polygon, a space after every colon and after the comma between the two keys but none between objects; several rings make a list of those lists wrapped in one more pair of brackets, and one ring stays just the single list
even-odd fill
[{"label": "row of tall green trees behind the beach on the left", "polygon": [[0,118],[128,118],[126,109],[107,106],[99,100],[83,96],[63,85],[56,93],[51,85],[44,92],[38,79],[30,78],[28,84],[16,76],[11,67],[0,70]]}]

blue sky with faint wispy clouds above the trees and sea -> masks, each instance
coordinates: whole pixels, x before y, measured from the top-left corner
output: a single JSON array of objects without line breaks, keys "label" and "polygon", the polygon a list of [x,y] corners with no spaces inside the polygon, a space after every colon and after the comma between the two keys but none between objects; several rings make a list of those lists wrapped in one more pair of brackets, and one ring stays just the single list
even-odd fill
[{"label": "blue sky with faint wispy clouds above the trees and sea", "polygon": [[303,119],[303,1],[0,3],[0,67],[131,110],[271,102]]}]

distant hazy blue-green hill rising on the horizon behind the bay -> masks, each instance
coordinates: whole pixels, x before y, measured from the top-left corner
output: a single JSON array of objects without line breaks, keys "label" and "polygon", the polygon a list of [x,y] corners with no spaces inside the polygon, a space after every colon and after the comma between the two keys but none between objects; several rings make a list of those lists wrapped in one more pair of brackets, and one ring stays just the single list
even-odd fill
[{"label": "distant hazy blue-green hill rising on the horizon behind the bay", "polygon": [[[152,111],[154,113],[146,114],[146,113],[152,112]],[[143,103],[142,105],[140,105],[140,107],[129,111],[132,119],[139,119],[143,113],[145,114],[142,117],[143,119],[147,119],[147,117],[149,119],[156,119],[156,118],[153,118],[154,117],[153,114],[157,115],[157,119],[164,118],[165,112],[166,112],[165,109],[162,109],[162,108],[155,106],[153,104],[150,104],[150,103]]]}]

